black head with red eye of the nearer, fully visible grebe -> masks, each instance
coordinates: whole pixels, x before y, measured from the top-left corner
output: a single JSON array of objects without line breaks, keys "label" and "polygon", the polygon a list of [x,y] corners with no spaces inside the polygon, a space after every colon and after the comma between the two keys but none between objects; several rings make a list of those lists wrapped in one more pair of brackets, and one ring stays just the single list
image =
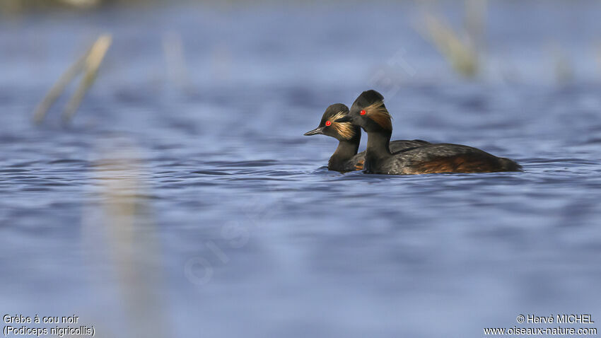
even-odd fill
[{"label": "black head with red eye of the nearer, fully visible grebe", "polygon": [[351,122],[366,132],[392,132],[392,117],[377,91],[364,91],[351,106],[348,115],[335,122]]}]

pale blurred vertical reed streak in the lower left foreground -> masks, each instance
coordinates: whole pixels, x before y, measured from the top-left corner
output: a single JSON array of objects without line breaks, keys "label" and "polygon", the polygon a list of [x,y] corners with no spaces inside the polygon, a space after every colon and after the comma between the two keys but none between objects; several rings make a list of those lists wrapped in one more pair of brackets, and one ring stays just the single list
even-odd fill
[{"label": "pale blurred vertical reed streak in the lower left foreground", "polygon": [[127,336],[168,337],[161,297],[163,256],[141,165],[134,157],[136,151],[125,144],[95,163],[102,187],[103,222],[93,223],[106,234],[107,253],[119,283],[119,305],[127,313]]}]

